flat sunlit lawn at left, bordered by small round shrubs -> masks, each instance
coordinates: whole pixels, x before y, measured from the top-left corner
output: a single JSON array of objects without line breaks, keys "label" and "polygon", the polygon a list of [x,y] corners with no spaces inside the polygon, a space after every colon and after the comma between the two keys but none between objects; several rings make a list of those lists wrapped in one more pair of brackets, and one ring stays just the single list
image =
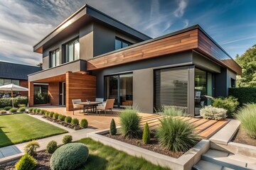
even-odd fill
[{"label": "flat sunlit lawn at left, bordered by small round shrubs", "polygon": [[26,115],[26,113],[0,116],[0,147],[65,132],[67,131]]}]

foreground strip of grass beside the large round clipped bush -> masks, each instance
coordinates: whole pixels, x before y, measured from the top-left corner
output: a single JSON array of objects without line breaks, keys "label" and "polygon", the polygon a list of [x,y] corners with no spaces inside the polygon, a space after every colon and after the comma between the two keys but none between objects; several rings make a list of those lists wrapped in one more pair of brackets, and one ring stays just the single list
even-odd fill
[{"label": "foreground strip of grass beside the large round clipped bush", "polygon": [[79,140],[89,148],[89,157],[82,170],[86,169],[166,169],[161,166],[156,166],[145,159],[132,157],[122,151],[102,145],[100,142],[95,142],[90,138]]}]

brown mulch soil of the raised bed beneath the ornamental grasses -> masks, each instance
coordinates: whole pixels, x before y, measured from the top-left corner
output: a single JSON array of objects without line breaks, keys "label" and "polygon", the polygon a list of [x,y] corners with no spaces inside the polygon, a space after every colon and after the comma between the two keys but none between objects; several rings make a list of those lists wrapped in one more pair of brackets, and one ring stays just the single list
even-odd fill
[{"label": "brown mulch soil of the raised bed beneath the ornamental grasses", "polygon": [[154,137],[154,133],[151,133],[151,140],[149,144],[144,144],[142,142],[142,134],[137,138],[125,138],[120,133],[117,133],[117,135],[110,135],[110,133],[104,134],[106,137],[110,137],[114,140],[119,140],[121,142],[128,143],[130,145],[135,145],[137,147],[142,147],[144,149],[148,149],[152,152],[156,152],[159,154],[164,154],[169,157],[178,158],[181,157],[181,155],[184,154],[184,152],[172,152],[170,150],[165,149],[163,146],[159,144],[159,141]]}]

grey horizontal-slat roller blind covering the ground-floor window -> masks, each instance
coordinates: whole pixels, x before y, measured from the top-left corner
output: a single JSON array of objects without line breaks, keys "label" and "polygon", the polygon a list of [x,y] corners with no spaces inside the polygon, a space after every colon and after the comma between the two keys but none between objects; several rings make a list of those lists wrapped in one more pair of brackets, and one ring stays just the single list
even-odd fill
[{"label": "grey horizontal-slat roller blind covering the ground-floor window", "polygon": [[188,67],[154,71],[154,108],[174,107],[188,111]]}]

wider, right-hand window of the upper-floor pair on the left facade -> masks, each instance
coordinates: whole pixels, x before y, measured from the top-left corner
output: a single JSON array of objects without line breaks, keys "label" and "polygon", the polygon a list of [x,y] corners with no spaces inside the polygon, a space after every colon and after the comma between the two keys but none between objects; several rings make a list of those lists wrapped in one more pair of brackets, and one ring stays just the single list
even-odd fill
[{"label": "wider, right-hand window of the upper-floor pair on the left facade", "polygon": [[65,62],[72,62],[80,58],[80,44],[78,39],[65,45]]}]

